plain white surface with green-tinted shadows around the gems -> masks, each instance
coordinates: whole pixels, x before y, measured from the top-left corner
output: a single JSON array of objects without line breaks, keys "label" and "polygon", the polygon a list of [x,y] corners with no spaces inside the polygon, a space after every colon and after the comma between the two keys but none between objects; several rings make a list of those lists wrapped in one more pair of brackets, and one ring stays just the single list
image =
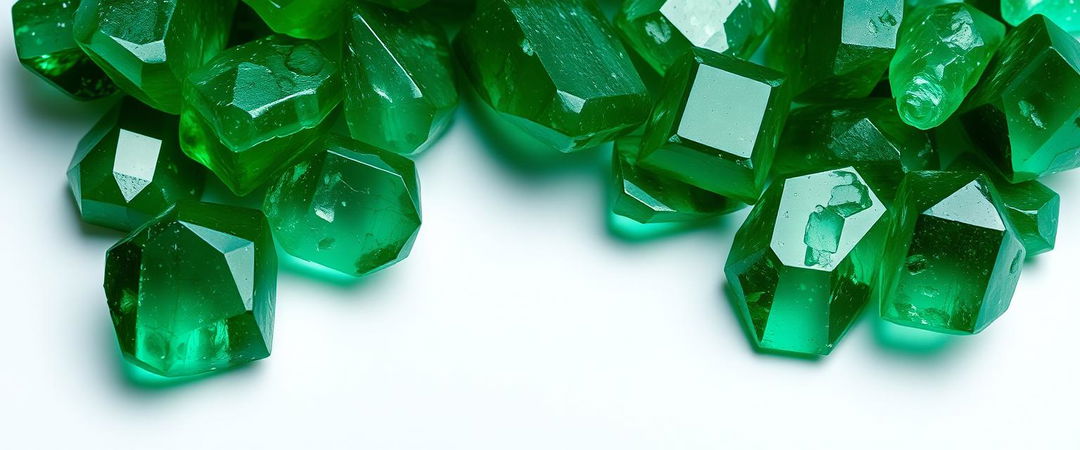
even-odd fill
[{"label": "plain white surface with green-tinted shadows around the gems", "polygon": [[410,258],[351,284],[285,265],[271,358],[144,380],[100,288],[120,235],[80,224],[65,179],[106,105],[24,71],[10,24],[4,8],[0,447],[1080,447],[1080,174],[1047,180],[1064,197],[1058,249],[1025,265],[985,332],[917,351],[867,315],[832,356],[793,359],[754,353],[723,291],[745,212],[618,238],[602,152],[514,164],[469,108],[418,162]]}]

